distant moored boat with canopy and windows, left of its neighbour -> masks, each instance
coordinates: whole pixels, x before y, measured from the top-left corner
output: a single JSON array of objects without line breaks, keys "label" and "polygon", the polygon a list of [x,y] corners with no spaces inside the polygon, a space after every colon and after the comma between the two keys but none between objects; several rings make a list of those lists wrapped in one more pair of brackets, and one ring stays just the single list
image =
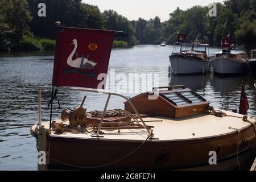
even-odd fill
[{"label": "distant moored boat with canopy and windows, left of its neighbour", "polygon": [[[209,59],[207,56],[208,44],[180,44],[179,52],[172,52],[170,57],[171,72],[174,75],[204,74],[209,72]],[[175,48],[174,48],[175,50]]]}]

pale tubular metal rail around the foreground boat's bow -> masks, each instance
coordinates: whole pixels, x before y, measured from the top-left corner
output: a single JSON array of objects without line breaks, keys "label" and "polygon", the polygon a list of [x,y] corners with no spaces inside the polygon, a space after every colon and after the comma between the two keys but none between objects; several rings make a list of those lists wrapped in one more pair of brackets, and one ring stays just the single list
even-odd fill
[{"label": "pale tubular metal rail around the foreground boat's bow", "polygon": [[[41,104],[41,101],[42,101],[42,90],[43,89],[57,89],[57,90],[65,90],[65,91],[100,93],[100,94],[108,95],[108,99],[106,100],[104,111],[103,111],[103,114],[102,114],[102,117],[101,117],[100,125],[98,126],[97,134],[95,135],[95,137],[100,137],[100,131],[101,131],[102,123],[104,122],[104,117],[105,117],[106,109],[108,108],[109,100],[110,100],[111,96],[121,97],[121,98],[125,99],[127,102],[129,102],[129,104],[133,108],[135,114],[138,115],[139,121],[141,121],[142,126],[144,127],[144,129],[146,129],[146,131],[148,133],[148,136],[152,135],[152,131],[147,127],[146,123],[143,121],[141,115],[138,113],[138,110],[134,106],[133,102],[131,102],[129,97],[125,97],[125,96],[123,96],[121,94],[117,94],[117,93],[105,92],[104,90],[100,90],[100,89],[89,89],[89,88],[39,86],[39,94],[38,94],[38,124],[37,124],[39,127],[42,126],[42,104]],[[51,121],[49,123],[49,132],[51,133]]]}]

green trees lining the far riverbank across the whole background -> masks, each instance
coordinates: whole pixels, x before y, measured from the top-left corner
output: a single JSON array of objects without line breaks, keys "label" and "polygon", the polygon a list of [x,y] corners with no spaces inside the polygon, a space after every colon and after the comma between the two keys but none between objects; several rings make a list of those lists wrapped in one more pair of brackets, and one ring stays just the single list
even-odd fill
[{"label": "green trees lining the far riverbank across the whole background", "polygon": [[[46,3],[46,17],[38,16],[38,4]],[[0,0],[0,51],[52,50],[55,48],[55,22],[62,26],[123,31],[127,37],[115,38],[114,47],[135,44],[173,44],[177,34],[187,34],[186,42],[196,38],[211,46],[220,46],[229,33],[244,44],[255,48],[256,0],[228,0],[217,3],[217,17],[208,16],[208,7],[193,6],[170,13],[170,19],[129,21],[113,10],[101,13],[97,6],[82,0]],[[47,38],[47,39],[45,39]]]}]

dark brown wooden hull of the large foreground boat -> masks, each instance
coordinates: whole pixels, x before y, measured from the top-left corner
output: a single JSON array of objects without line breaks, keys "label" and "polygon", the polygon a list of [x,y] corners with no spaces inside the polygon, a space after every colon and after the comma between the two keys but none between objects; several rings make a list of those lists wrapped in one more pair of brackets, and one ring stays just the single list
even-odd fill
[{"label": "dark brown wooden hull of the large foreground boat", "polygon": [[[33,133],[34,130],[31,129],[31,132]],[[242,170],[247,170],[255,159],[255,138],[252,137],[254,132],[253,127],[246,127],[240,133],[240,140],[246,138],[245,144],[240,141],[239,162]],[[49,146],[46,146],[49,155],[46,169],[234,170],[237,166],[237,139],[237,133],[187,140],[156,139],[147,140],[135,150],[144,142],[143,140],[69,138],[50,135]],[[46,140],[39,140],[39,146],[45,142]],[[131,153],[134,150],[135,152]],[[218,151],[217,165],[209,164],[209,151]]]}]

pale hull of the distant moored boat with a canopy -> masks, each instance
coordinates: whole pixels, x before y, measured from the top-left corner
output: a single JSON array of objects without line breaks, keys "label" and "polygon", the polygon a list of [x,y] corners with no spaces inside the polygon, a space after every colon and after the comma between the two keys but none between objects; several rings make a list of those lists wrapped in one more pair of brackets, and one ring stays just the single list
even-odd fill
[{"label": "pale hull of the distant moored boat with a canopy", "polygon": [[209,72],[209,62],[183,55],[171,55],[171,72],[174,75],[205,74]]}]

